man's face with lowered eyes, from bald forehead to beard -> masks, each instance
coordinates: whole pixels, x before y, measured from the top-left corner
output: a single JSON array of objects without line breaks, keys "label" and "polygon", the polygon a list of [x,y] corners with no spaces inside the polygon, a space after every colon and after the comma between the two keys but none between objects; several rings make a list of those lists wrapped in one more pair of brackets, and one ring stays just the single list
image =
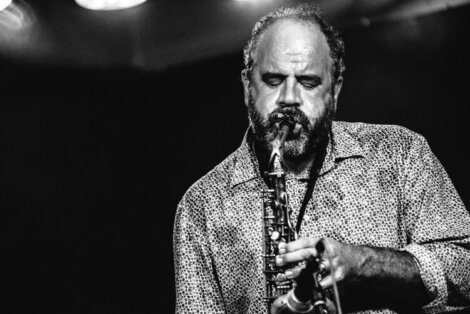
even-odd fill
[{"label": "man's face with lowered eyes, from bald forehead to beard", "polygon": [[327,136],[341,88],[341,80],[333,88],[329,53],[325,36],[309,22],[280,20],[262,35],[245,100],[263,149],[272,149],[277,113],[295,121],[284,148],[288,159],[309,158]]}]

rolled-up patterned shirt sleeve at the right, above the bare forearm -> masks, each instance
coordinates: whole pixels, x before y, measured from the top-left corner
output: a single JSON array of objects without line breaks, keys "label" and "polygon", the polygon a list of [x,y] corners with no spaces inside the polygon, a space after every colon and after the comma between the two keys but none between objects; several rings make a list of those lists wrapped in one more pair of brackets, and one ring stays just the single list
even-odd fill
[{"label": "rolled-up patterned shirt sleeve at the right, above the bare forearm", "polygon": [[441,313],[470,305],[470,215],[447,173],[418,136],[404,167],[403,206],[408,245],[432,301]]}]

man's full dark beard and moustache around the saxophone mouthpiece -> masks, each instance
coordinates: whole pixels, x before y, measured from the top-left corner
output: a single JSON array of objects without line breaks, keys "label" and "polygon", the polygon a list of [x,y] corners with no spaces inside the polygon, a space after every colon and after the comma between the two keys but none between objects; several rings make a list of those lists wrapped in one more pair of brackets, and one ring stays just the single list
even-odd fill
[{"label": "man's full dark beard and moustache around the saxophone mouthpiece", "polygon": [[284,142],[284,159],[294,163],[306,161],[328,139],[335,114],[334,108],[333,97],[330,97],[323,112],[315,119],[310,119],[295,106],[279,108],[264,118],[256,110],[250,95],[248,117],[257,148],[261,149],[265,156],[269,156],[273,149],[272,143],[279,133],[276,124],[279,123],[278,114],[281,113],[295,122]]}]

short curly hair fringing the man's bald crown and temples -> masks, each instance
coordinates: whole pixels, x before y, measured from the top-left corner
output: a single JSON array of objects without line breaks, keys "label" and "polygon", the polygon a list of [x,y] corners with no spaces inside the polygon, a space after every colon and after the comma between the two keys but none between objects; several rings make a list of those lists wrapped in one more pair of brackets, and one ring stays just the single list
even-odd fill
[{"label": "short curly hair fringing the man's bald crown and temples", "polygon": [[271,26],[274,22],[293,18],[303,21],[308,21],[320,27],[321,32],[325,35],[328,46],[330,47],[330,57],[333,61],[331,76],[333,82],[336,82],[346,69],[344,65],[344,42],[339,33],[328,23],[323,12],[316,6],[309,4],[300,4],[294,7],[282,7],[277,10],[271,11],[255,24],[251,33],[251,38],[243,50],[244,70],[243,79],[251,80],[253,73],[253,66],[255,63],[254,55],[258,49],[258,42],[261,35]]}]

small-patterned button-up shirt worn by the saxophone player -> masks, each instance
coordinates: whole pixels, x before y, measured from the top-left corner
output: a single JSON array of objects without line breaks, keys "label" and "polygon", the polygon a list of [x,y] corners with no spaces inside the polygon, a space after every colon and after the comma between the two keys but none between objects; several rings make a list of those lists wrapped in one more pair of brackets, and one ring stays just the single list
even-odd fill
[{"label": "small-patterned button-up shirt worn by the saxophone player", "polygon": [[[470,215],[426,140],[403,127],[333,122],[302,237],[406,250],[438,313],[470,304]],[[262,195],[247,132],[241,147],[197,181],[174,226],[177,313],[266,313]],[[292,219],[308,171],[286,175]],[[395,313],[390,309],[361,313]]]}]

